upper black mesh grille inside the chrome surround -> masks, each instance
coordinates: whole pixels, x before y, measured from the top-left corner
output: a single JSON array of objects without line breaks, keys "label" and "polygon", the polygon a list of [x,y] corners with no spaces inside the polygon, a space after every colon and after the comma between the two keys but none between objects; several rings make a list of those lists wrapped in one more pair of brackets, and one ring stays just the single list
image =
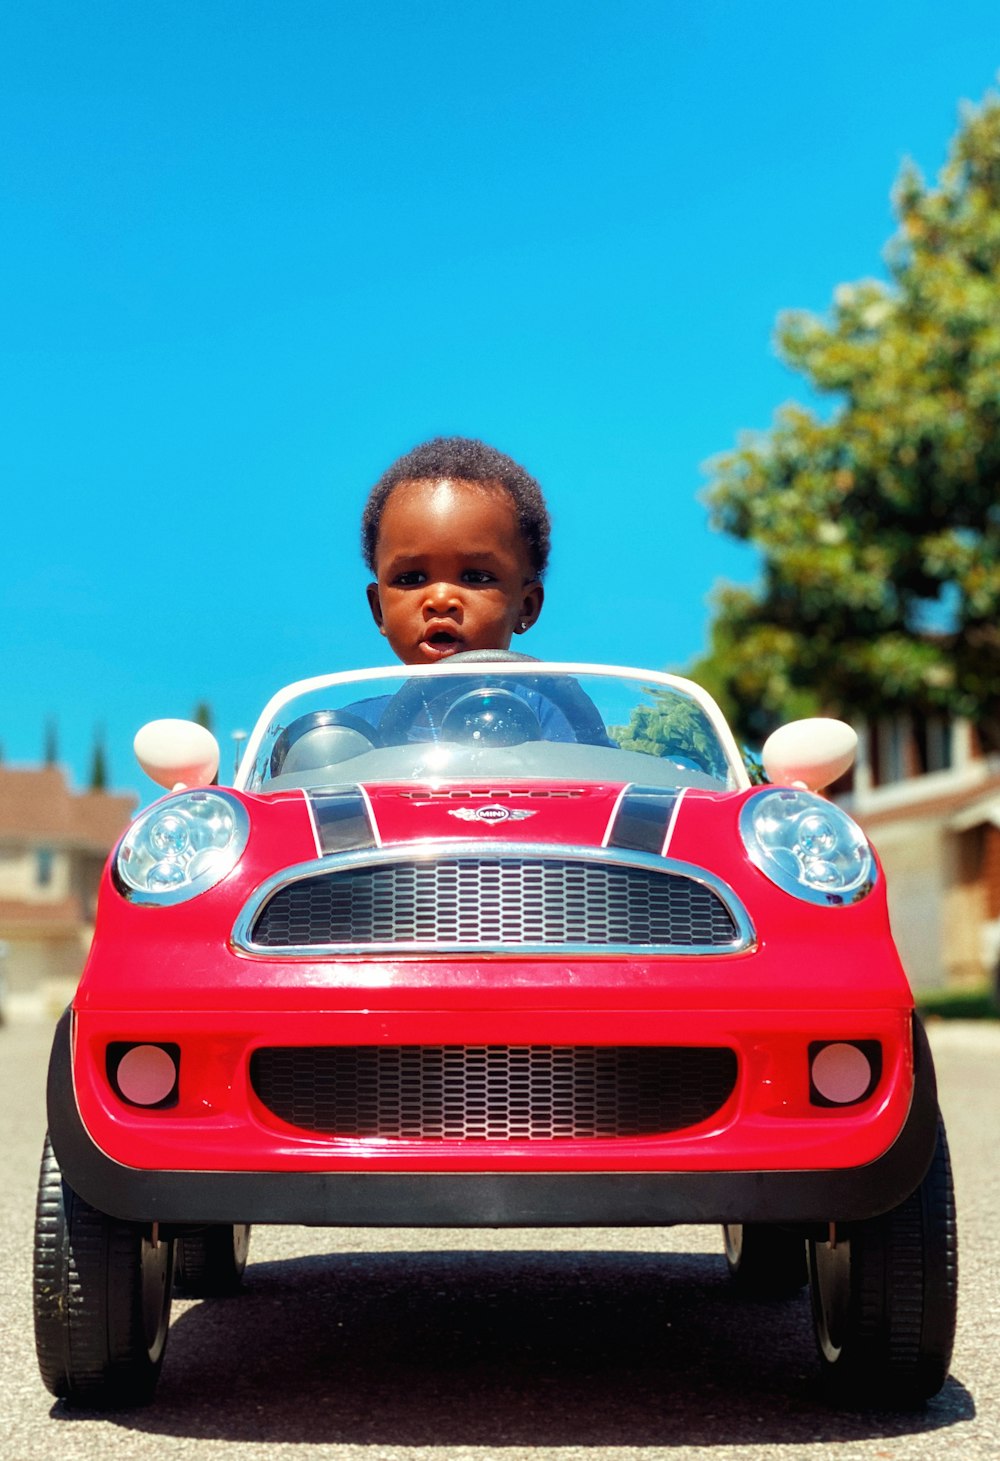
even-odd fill
[{"label": "upper black mesh grille inside the chrome surround", "polygon": [[548,858],[442,858],[323,872],[279,888],[253,925],[263,948],[365,944],[611,944],[718,948],[737,926],[681,874]]}]

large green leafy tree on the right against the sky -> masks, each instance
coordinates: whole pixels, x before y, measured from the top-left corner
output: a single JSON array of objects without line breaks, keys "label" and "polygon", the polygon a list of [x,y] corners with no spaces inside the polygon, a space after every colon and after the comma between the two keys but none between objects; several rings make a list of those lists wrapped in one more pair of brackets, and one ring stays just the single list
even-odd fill
[{"label": "large green leafy tree on the right against the sky", "polygon": [[712,522],[762,552],[724,586],[709,655],[740,732],[839,713],[977,722],[1000,747],[1000,99],[969,108],[936,187],[908,165],[889,279],[788,313],[778,349],[820,413],[711,463]]}]

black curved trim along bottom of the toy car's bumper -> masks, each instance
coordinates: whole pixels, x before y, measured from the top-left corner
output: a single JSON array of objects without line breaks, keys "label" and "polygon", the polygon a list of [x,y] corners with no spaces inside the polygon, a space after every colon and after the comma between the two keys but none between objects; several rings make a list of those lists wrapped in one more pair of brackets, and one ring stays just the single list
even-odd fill
[{"label": "black curved trim along bottom of the toy car's bumper", "polygon": [[[76,1105],[70,1014],[48,1077],[53,1147],[63,1176],[92,1205],[135,1221],[306,1223],[316,1226],[651,1226],[671,1223],[851,1221],[887,1211],[921,1182],[934,1150],[937,1097],[927,1040],[914,1023],[914,1081],[896,1138],[874,1160],[801,1169],[515,1167],[480,1150],[463,1169],[387,1169],[355,1153],[345,1167],[148,1169],[115,1161]],[[615,1144],[617,1147],[617,1144]],[[652,1147],[652,1143],[649,1143]],[[189,1151],[189,1157],[190,1157]],[[544,1160],[544,1154],[539,1153]],[[561,1157],[561,1153],[560,1153]]]}]

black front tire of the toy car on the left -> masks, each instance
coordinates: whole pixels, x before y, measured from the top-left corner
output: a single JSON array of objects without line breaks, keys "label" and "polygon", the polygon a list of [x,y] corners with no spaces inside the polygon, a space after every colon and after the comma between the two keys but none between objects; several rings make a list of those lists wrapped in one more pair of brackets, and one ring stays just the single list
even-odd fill
[{"label": "black front tire of the toy car on the left", "polygon": [[35,1214],[35,1347],[45,1388],[92,1410],[152,1400],[167,1347],[174,1243],[91,1207],[45,1140]]}]

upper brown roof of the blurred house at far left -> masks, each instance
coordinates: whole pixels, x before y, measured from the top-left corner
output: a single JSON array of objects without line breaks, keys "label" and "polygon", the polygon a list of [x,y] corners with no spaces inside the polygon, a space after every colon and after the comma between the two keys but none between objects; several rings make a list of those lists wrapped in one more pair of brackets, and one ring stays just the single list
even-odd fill
[{"label": "upper brown roof of the blurred house at far left", "polygon": [[0,840],[48,842],[107,853],[129,825],[135,796],[73,792],[58,766],[0,766]]}]

